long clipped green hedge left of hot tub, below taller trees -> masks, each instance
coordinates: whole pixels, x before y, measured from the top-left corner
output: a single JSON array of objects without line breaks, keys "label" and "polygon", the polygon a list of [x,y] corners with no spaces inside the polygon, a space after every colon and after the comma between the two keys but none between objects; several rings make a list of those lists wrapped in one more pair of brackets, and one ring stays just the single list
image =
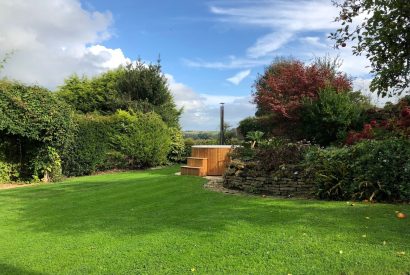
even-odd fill
[{"label": "long clipped green hedge left of hot tub, below taller trees", "polygon": [[171,133],[155,113],[77,115],[76,123],[74,142],[63,155],[67,176],[151,167],[166,163],[171,152]]}]

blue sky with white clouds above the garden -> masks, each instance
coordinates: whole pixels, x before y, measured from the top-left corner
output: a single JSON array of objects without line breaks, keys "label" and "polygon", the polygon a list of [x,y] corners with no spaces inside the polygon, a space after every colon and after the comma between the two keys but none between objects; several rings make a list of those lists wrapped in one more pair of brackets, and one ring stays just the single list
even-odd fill
[{"label": "blue sky with white clouds above the garden", "polygon": [[0,58],[13,51],[0,77],[56,90],[73,73],[160,58],[184,130],[217,130],[220,102],[235,127],[277,57],[339,55],[368,94],[368,61],[327,38],[337,14],[330,0],[0,0]]}]

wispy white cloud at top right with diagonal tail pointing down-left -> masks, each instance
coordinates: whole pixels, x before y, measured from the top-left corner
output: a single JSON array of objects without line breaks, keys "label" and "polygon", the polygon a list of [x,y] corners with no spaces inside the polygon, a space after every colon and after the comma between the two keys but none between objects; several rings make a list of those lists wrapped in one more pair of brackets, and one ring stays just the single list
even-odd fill
[{"label": "wispy white cloud at top right with diagonal tail pointing down-left", "polygon": [[247,49],[247,55],[251,58],[274,53],[298,32],[328,31],[336,28],[332,20],[337,16],[337,9],[327,0],[244,3],[236,3],[235,7],[211,6],[210,11],[225,23],[271,30]]}]

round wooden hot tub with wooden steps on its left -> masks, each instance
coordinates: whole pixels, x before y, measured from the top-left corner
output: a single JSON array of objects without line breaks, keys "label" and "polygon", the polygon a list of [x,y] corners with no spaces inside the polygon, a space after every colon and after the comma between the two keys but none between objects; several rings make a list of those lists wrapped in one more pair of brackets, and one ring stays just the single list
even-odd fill
[{"label": "round wooden hot tub with wooden steps on its left", "polygon": [[181,175],[222,176],[229,163],[231,145],[194,145]]}]

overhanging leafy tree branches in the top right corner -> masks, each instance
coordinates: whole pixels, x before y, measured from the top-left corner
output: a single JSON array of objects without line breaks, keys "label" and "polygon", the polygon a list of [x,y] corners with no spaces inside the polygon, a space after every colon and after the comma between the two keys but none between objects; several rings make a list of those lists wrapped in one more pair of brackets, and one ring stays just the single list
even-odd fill
[{"label": "overhanging leafy tree branches in the top right corner", "polygon": [[329,37],[336,48],[351,42],[354,55],[366,55],[374,75],[370,90],[383,97],[410,93],[410,1],[333,3],[340,9],[335,21],[341,28]]}]

